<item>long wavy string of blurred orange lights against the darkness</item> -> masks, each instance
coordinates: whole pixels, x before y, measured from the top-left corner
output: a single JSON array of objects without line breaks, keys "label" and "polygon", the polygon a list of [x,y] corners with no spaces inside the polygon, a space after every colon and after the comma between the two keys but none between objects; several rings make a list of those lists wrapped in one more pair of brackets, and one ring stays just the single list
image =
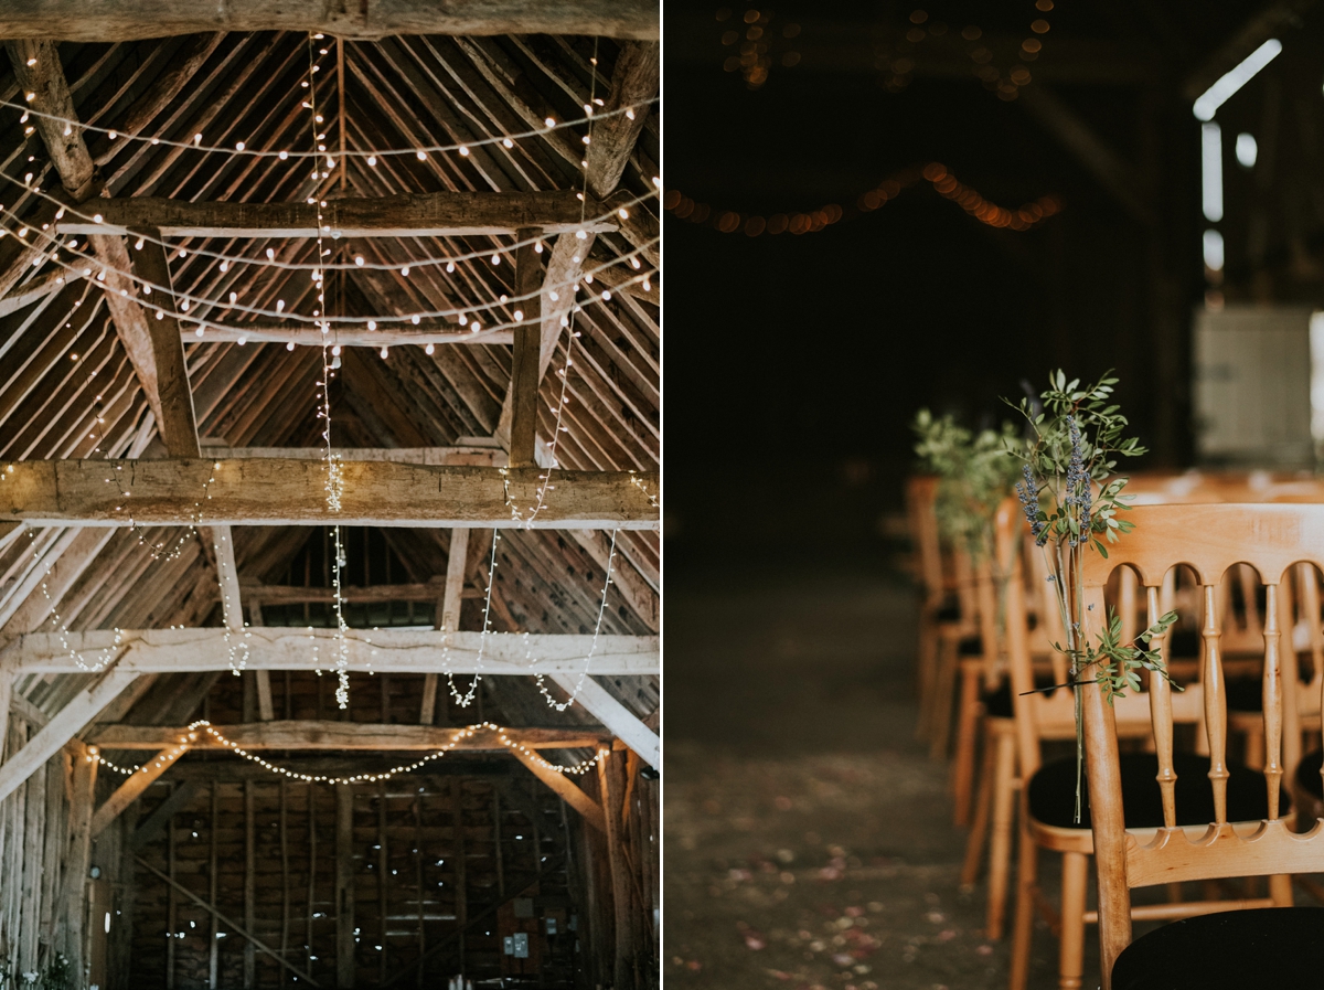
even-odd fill
[{"label": "long wavy string of blurred orange lights against the darkness", "polygon": [[1018,209],[998,206],[980,195],[974,188],[959,181],[947,165],[940,161],[929,161],[923,167],[896,172],[874,188],[866,189],[855,199],[854,204],[841,206],[835,202],[829,202],[808,213],[789,212],[764,216],[760,213],[715,210],[706,202],[690,199],[679,189],[667,191],[662,200],[662,206],[681,220],[688,220],[691,224],[702,224],[724,234],[737,232],[744,233],[747,237],[760,237],[763,234],[777,236],[786,232],[792,234],[809,234],[871,213],[896,199],[904,189],[916,185],[920,180],[927,180],[939,196],[952,200],[974,217],[974,220],[993,228],[1030,230],[1049,217],[1062,212],[1062,201],[1057,196],[1041,196]]}]

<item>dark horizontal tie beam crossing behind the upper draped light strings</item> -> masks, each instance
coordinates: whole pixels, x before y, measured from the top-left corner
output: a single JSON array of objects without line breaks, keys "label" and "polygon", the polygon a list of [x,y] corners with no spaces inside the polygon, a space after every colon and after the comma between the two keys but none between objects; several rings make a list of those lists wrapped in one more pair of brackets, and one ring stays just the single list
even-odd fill
[{"label": "dark horizontal tie beam crossing behind the upper draped light strings", "polygon": [[[167,237],[316,237],[319,209],[306,202],[187,202],[134,196],[98,200],[95,212],[99,222],[66,213],[56,229],[64,234],[126,234],[150,226]],[[520,228],[547,234],[616,230],[620,218],[614,213],[594,220],[605,212],[600,202],[581,202],[573,189],[401,193],[331,200],[320,209],[322,232],[342,237],[514,234]]]}]

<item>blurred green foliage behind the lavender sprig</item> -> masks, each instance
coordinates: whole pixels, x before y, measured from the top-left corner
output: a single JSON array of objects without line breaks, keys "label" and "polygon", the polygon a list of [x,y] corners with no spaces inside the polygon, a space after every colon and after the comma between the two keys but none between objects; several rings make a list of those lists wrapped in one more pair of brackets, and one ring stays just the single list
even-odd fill
[{"label": "blurred green foliage behind the lavender sprig", "polygon": [[992,551],[993,514],[1017,478],[1017,463],[1006,455],[1016,428],[1006,422],[1001,430],[973,433],[951,416],[935,418],[920,409],[911,429],[920,463],[939,479],[939,528],[948,540],[982,557]]}]

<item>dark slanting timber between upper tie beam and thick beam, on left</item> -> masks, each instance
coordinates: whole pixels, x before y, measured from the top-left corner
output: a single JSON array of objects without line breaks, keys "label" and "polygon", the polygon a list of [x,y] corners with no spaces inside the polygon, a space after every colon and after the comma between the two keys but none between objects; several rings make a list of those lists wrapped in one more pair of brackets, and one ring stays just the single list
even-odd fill
[{"label": "dark slanting timber between upper tie beam and thick beam, on left", "polygon": [[[160,319],[147,320],[152,363],[156,367],[156,396],[162,408],[156,429],[171,457],[199,457],[201,451],[197,446],[193,389],[188,384],[188,367],[184,363],[184,343],[180,339],[179,320],[171,315],[176,312],[176,307],[169,262],[166,259],[166,249],[159,244],[160,230],[144,228],[134,233],[143,234],[142,248],[138,249],[138,255],[134,259],[134,270],[144,282],[158,286],[144,298],[150,298],[162,307],[160,312],[163,314]],[[122,241],[115,240],[120,246],[123,245]],[[148,292],[147,289],[143,291]]]}]

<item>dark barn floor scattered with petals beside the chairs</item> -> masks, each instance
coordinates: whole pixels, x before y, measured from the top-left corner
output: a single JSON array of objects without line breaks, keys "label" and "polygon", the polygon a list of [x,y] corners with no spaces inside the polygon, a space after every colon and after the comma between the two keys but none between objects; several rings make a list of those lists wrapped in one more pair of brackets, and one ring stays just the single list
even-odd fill
[{"label": "dark barn floor scattered with petals beside the chairs", "polygon": [[[782,570],[667,584],[663,985],[1005,986],[914,741],[914,593],[867,561]],[[1033,990],[1055,957],[1041,925]]]}]

